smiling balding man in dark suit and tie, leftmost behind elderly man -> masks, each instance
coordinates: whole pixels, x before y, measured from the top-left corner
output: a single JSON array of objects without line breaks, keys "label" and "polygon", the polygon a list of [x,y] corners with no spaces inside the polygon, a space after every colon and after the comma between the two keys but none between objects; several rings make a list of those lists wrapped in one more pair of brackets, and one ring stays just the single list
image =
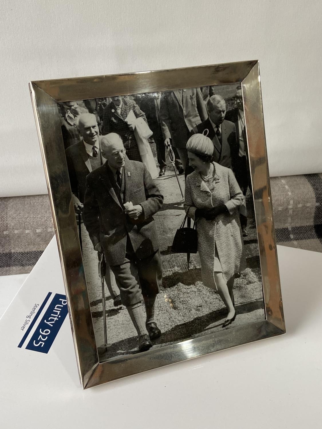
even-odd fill
[{"label": "smiling balding man in dark suit and tie, leftmost behind elderly man", "polygon": [[[82,113],[78,116],[78,130],[82,139],[66,149],[66,160],[73,203],[76,213],[81,213],[85,196],[86,176],[97,169],[106,159],[100,150],[99,130],[95,115]],[[108,261],[106,261],[105,281],[115,307],[121,305],[120,292],[115,283]]]}]

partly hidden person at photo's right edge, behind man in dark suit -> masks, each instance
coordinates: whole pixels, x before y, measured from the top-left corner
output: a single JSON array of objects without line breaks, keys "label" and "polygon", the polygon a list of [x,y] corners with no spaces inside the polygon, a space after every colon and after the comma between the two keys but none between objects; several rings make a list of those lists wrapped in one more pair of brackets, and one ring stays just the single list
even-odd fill
[{"label": "partly hidden person at photo's right edge, behind man in dark suit", "polygon": [[[234,96],[235,108],[226,113],[226,118],[234,122],[237,132],[237,147],[232,152],[232,166],[236,180],[246,196],[247,188],[252,192],[252,182],[250,179],[249,163],[248,163],[248,147],[245,127],[245,116],[243,109],[243,93],[241,88],[237,88]],[[243,212],[240,213],[240,223],[242,226],[243,236],[247,236],[247,211],[246,205],[241,207]]]}]

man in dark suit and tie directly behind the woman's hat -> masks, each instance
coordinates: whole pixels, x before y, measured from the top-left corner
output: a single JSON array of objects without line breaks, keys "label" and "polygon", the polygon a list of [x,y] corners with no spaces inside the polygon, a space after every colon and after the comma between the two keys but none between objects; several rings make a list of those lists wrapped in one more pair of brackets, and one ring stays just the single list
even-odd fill
[{"label": "man in dark suit and tie directly behind the woman's hat", "polygon": [[192,134],[204,133],[213,142],[213,160],[222,166],[232,169],[231,154],[237,147],[235,125],[225,120],[226,103],[220,95],[213,95],[207,103],[209,118],[194,127]]}]

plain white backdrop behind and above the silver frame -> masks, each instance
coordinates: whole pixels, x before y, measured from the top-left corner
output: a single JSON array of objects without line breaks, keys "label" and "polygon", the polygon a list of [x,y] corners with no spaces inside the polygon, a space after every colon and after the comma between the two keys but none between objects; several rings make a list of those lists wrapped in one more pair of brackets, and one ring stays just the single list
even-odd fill
[{"label": "plain white backdrop behind and above the silver frame", "polygon": [[322,172],[321,0],[0,0],[0,196],[46,193],[28,82],[260,61],[270,175]]}]

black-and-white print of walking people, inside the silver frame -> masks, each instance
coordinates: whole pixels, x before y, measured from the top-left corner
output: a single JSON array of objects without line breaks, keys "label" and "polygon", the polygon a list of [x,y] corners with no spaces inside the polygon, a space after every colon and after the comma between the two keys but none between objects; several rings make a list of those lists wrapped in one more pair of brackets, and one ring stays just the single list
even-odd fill
[{"label": "black-and-white print of walking people, inside the silver frame", "polygon": [[241,85],[58,110],[100,362],[264,320]]}]

